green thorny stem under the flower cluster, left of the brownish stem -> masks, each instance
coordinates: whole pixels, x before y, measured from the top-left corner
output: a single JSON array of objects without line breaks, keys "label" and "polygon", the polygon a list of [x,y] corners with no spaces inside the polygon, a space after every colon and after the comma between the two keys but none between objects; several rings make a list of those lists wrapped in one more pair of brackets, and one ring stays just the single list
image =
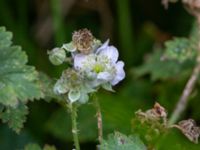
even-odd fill
[{"label": "green thorny stem under the flower cluster, left of the brownish stem", "polygon": [[77,128],[77,106],[70,104],[71,120],[72,120],[72,135],[74,140],[74,146],[76,150],[80,150],[79,139],[78,139],[78,128]]}]

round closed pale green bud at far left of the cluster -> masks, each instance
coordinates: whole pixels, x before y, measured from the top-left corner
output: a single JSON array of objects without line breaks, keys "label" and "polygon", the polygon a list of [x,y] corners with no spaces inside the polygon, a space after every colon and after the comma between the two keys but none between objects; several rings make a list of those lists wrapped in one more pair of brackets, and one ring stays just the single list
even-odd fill
[{"label": "round closed pale green bud at far left of the cluster", "polygon": [[66,59],[65,50],[62,48],[54,48],[52,51],[48,52],[49,60],[54,65],[61,65]]}]

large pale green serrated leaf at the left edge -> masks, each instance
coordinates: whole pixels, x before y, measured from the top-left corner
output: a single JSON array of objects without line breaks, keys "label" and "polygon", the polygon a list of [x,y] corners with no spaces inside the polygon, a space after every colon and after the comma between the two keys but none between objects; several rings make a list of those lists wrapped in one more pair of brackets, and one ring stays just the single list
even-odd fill
[{"label": "large pale green serrated leaf at the left edge", "polygon": [[12,46],[12,34],[0,28],[0,103],[16,107],[19,101],[42,97],[38,74],[26,65],[27,55],[19,46]]}]

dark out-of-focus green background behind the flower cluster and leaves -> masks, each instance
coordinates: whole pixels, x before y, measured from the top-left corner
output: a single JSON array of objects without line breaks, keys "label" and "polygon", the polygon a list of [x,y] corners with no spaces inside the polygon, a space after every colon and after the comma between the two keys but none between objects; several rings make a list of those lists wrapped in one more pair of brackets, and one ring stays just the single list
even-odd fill
[{"label": "dark out-of-focus green background behind the flower cluster and leaves", "polygon": [[[164,41],[188,36],[193,21],[180,3],[165,10],[160,0],[0,0],[0,26],[13,32],[14,43],[26,51],[30,65],[54,79],[66,66],[51,65],[47,50],[71,41],[75,30],[88,28],[97,38],[109,38],[118,48],[127,75],[115,87],[115,93],[99,94],[105,137],[113,131],[130,134],[134,112],[151,108],[155,101],[172,112],[187,76],[153,81],[148,74],[136,78],[134,70]],[[200,121],[200,95],[193,95],[182,118]],[[59,104],[40,100],[29,103],[29,108],[21,134],[0,125],[1,150],[22,149],[29,142],[72,149],[70,119]],[[79,128],[82,149],[95,149],[97,129],[91,104],[80,108]]]}]

